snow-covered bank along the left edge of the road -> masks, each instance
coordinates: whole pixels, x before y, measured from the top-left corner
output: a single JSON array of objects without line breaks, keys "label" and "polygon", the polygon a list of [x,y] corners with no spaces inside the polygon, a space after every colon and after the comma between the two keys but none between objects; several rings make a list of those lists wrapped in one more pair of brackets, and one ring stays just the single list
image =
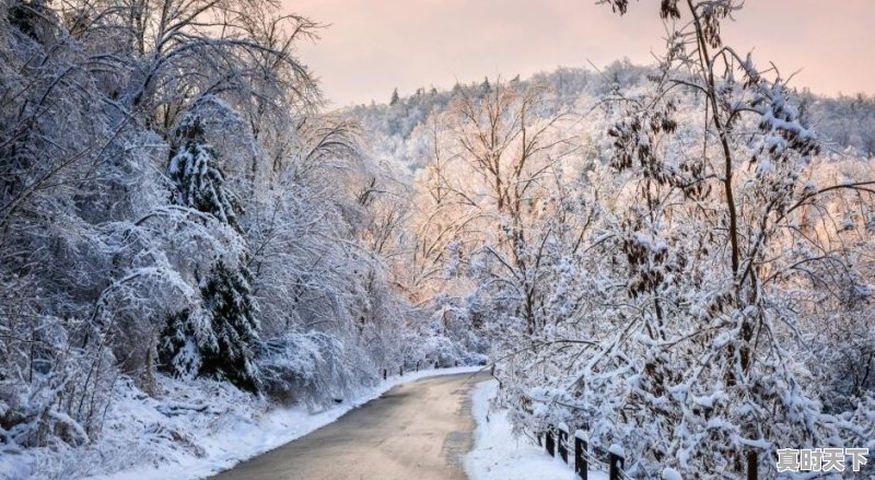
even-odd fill
[{"label": "snow-covered bank along the left edge of the road", "polygon": [[173,385],[172,399],[139,390],[107,411],[102,436],[89,446],[0,452],[0,479],[198,479],[225,470],[334,422],[389,388],[419,378],[481,367],[427,370],[394,376],[326,410],[269,409],[218,382]]}]

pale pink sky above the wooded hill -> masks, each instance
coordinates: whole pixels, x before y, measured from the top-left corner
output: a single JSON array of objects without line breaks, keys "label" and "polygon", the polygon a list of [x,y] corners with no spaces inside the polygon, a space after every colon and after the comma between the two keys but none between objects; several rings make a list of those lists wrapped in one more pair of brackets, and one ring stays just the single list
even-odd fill
[{"label": "pale pink sky above the wooded hill", "polygon": [[[301,56],[336,105],[386,102],[394,87],[450,87],[558,66],[651,62],[664,28],[656,0],[620,17],[595,0],[283,0],[330,24]],[[875,1],[747,0],[724,40],[818,93],[875,93]]]}]

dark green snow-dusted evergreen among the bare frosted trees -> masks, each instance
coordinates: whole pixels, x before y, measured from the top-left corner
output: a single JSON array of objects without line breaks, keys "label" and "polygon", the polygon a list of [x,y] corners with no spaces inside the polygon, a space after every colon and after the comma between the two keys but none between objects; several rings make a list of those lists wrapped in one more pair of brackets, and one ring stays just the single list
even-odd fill
[{"label": "dark green snow-dusted evergreen among the bare frosted trees", "polygon": [[[177,138],[185,144],[173,154],[167,168],[175,184],[171,201],[209,213],[241,232],[238,202],[224,188],[224,175],[205,139],[202,121],[185,119]],[[220,258],[209,276],[199,279],[203,313],[186,309],[167,318],[160,349],[166,371],[177,376],[228,379],[241,389],[258,391],[260,379],[253,355],[259,326],[252,273],[245,264],[245,257],[233,262]]]}]

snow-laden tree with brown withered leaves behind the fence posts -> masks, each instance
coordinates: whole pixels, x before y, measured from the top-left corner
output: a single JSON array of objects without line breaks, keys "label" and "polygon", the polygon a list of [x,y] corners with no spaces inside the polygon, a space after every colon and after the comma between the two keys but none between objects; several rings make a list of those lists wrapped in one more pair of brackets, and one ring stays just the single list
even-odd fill
[{"label": "snow-laden tree with brown withered leaves behind the fence posts", "polygon": [[652,87],[604,104],[617,117],[597,171],[608,191],[576,270],[586,307],[502,365],[521,425],[578,424],[634,452],[635,477],[666,465],[740,475],[748,450],[774,476],[778,448],[841,447],[872,431],[865,398],[824,411],[825,372],[806,348],[822,314],[812,294],[825,278],[868,290],[832,230],[806,231],[803,212],[845,191],[868,197],[873,180],[810,180],[820,147],[785,80],[721,38],[739,8],[662,3],[663,19],[686,20]]}]

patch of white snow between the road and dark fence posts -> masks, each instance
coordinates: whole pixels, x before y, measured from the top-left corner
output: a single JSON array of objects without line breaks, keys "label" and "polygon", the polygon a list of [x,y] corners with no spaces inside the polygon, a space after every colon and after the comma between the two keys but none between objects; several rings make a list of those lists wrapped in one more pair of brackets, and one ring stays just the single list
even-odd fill
[{"label": "patch of white snow between the road and dark fence posts", "polygon": [[[471,409],[477,420],[474,449],[465,457],[471,480],[575,480],[574,469],[559,456],[550,457],[528,438],[515,437],[505,411],[490,411],[498,382],[475,387]],[[591,480],[607,480],[602,471],[590,471]]]}]

